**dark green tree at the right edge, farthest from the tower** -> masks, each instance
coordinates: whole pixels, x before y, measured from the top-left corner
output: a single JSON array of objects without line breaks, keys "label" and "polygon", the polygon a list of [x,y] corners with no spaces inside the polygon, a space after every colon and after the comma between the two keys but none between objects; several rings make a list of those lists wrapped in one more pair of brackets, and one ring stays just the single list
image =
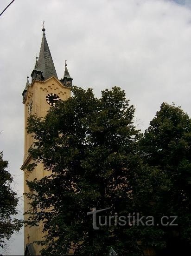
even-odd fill
[{"label": "dark green tree at the right edge, farthest from the tower", "polygon": [[184,254],[191,242],[191,119],[180,107],[163,103],[145,131],[142,149],[145,162],[170,181],[157,202],[160,213],[178,216],[178,227],[163,228],[166,251]]}]

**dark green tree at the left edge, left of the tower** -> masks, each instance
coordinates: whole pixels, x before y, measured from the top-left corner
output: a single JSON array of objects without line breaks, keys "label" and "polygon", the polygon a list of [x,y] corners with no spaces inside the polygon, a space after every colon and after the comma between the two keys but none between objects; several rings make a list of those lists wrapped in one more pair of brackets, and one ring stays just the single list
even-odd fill
[{"label": "dark green tree at the left edge, left of the tower", "polygon": [[11,189],[13,177],[6,170],[7,167],[8,162],[3,160],[3,153],[0,152],[0,247],[3,249],[6,241],[22,227],[22,221],[13,218],[17,214],[19,199]]}]

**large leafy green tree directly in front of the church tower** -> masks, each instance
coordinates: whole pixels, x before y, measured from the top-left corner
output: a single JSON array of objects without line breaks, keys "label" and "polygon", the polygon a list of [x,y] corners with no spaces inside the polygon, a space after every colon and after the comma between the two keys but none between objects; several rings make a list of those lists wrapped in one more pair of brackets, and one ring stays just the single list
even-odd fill
[{"label": "large leafy green tree directly in front of the church tower", "polygon": [[34,190],[27,194],[34,215],[26,223],[44,222],[48,235],[41,242],[46,245],[42,254],[67,254],[72,241],[77,255],[108,255],[115,243],[113,228],[93,230],[87,212],[92,207],[115,211],[119,198],[128,200],[129,176],[140,162],[134,107],[116,87],[102,91],[100,99],[92,89],[73,88],[72,93],[45,119],[29,118],[28,132],[37,142],[30,150],[35,162],[28,169],[43,162],[51,172],[40,181],[27,182]]}]

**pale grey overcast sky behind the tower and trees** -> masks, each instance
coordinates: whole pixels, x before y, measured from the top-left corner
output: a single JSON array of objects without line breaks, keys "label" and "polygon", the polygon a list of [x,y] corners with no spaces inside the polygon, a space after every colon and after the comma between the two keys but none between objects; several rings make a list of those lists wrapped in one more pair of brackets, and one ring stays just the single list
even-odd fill
[{"label": "pale grey overcast sky behind the tower and trees", "polygon": [[[11,0],[0,0],[0,12]],[[23,193],[22,92],[42,40],[42,23],[58,78],[64,60],[73,85],[119,86],[143,131],[163,101],[191,115],[191,0],[15,0],[0,17],[0,151]],[[22,217],[22,201],[20,216]],[[23,233],[6,255],[22,255]]]}]

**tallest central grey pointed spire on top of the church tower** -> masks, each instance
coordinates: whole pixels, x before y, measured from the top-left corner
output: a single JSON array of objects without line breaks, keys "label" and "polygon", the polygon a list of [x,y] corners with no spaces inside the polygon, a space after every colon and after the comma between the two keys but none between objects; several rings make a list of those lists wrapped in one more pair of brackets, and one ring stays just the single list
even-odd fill
[{"label": "tallest central grey pointed spire on top of the church tower", "polygon": [[44,22],[43,22],[43,38],[42,38],[42,43],[40,47],[40,53],[38,57],[38,69],[41,70],[43,73],[43,77],[45,79],[55,76],[57,78],[57,72],[54,67],[54,63],[52,61],[51,57],[51,52],[48,47],[48,43],[45,37],[45,27],[44,27]]}]

